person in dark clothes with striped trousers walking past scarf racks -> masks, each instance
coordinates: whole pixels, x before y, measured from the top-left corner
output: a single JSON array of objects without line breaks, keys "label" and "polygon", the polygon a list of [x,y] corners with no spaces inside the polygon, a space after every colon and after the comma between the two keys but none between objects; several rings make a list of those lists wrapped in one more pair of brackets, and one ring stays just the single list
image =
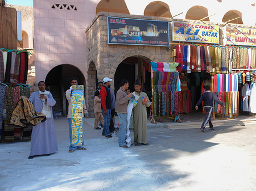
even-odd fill
[{"label": "person in dark clothes with striped trousers walking past scarf racks", "polygon": [[218,97],[213,94],[213,92],[210,92],[210,86],[203,86],[205,89],[204,94],[201,95],[199,101],[196,104],[196,110],[198,109],[198,106],[204,101],[204,111],[206,113],[205,120],[203,124],[201,125],[200,130],[205,132],[205,126],[208,124],[210,125],[210,130],[213,130],[212,121],[210,120],[210,116],[212,115],[213,111],[213,100],[216,101],[218,104],[224,106],[224,104],[221,103],[221,101],[218,99]]}]

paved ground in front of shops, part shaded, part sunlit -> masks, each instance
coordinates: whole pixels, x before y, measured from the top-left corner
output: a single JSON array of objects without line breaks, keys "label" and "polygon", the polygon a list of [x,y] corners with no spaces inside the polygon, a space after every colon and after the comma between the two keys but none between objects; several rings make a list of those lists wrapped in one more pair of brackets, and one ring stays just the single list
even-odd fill
[{"label": "paved ground in front of shops, part shaded, part sunlit", "polygon": [[28,160],[30,142],[1,143],[0,190],[256,190],[255,118],[213,121],[207,133],[201,122],[148,124],[150,145],[129,149],[93,120],[86,151],[68,153],[65,117],[55,119],[55,154]]}]

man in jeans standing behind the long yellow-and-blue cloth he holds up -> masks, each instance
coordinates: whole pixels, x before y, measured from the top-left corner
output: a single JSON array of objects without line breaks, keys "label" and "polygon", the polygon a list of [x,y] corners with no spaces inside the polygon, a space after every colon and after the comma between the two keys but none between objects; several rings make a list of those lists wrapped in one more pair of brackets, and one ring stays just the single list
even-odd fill
[{"label": "man in jeans standing behind the long yellow-and-blue cloth he holds up", "polygon": [[[77,78],[71,78],[71,86],[75,86],[78,85],[78,79]],[[85,147],[83,146],[76,146],[76,145],[72,145],[72,92],[74,90],[72,89],[68,89],[66,91],[66,98],[68,100],[68,125],[69,125],[69,141],[70,141],[70,146],[69,146],[69,151],[68,152],[74,152],[75,150],[86,150]],[[84,113],[88,113],[87,109],[86,109],[86,105],[85,105],[85,99],[84,96],[82,98],[82,112]],[[84,125],[84,122],[82,122],[82,125]],[[84,136],[82,138],[82,145],[84,145]]]}]

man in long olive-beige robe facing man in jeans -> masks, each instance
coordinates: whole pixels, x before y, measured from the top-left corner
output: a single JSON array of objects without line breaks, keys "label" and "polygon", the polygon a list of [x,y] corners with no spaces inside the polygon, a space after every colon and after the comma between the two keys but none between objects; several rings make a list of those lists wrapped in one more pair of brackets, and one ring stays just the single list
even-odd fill
[{"label": "man in long olive-beige robe facing man in jeans", "polygon": [[135,95],[139,96],[138,104],[133,108],[134,143],[135,146],[148,145],[147,143],[147,108],[150,100],[147,94],[141,91],[141,84],[134,83]]}]

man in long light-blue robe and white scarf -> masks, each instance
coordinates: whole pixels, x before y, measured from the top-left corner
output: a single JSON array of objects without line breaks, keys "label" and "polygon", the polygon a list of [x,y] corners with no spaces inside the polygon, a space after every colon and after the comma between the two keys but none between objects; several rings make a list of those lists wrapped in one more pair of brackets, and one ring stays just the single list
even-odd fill
[{"label": "man in long light-blue robe and white scarf", "polygon": [[56,101],[51,92],[46,91],[46,83],[38,83],[39,91],[33,92],[29,98],[36,112],[46,115],[46,121],[35,125],[31,134],[31,148],[28,159],[36,155],[49,155],[58,151],[52,106]]}]

